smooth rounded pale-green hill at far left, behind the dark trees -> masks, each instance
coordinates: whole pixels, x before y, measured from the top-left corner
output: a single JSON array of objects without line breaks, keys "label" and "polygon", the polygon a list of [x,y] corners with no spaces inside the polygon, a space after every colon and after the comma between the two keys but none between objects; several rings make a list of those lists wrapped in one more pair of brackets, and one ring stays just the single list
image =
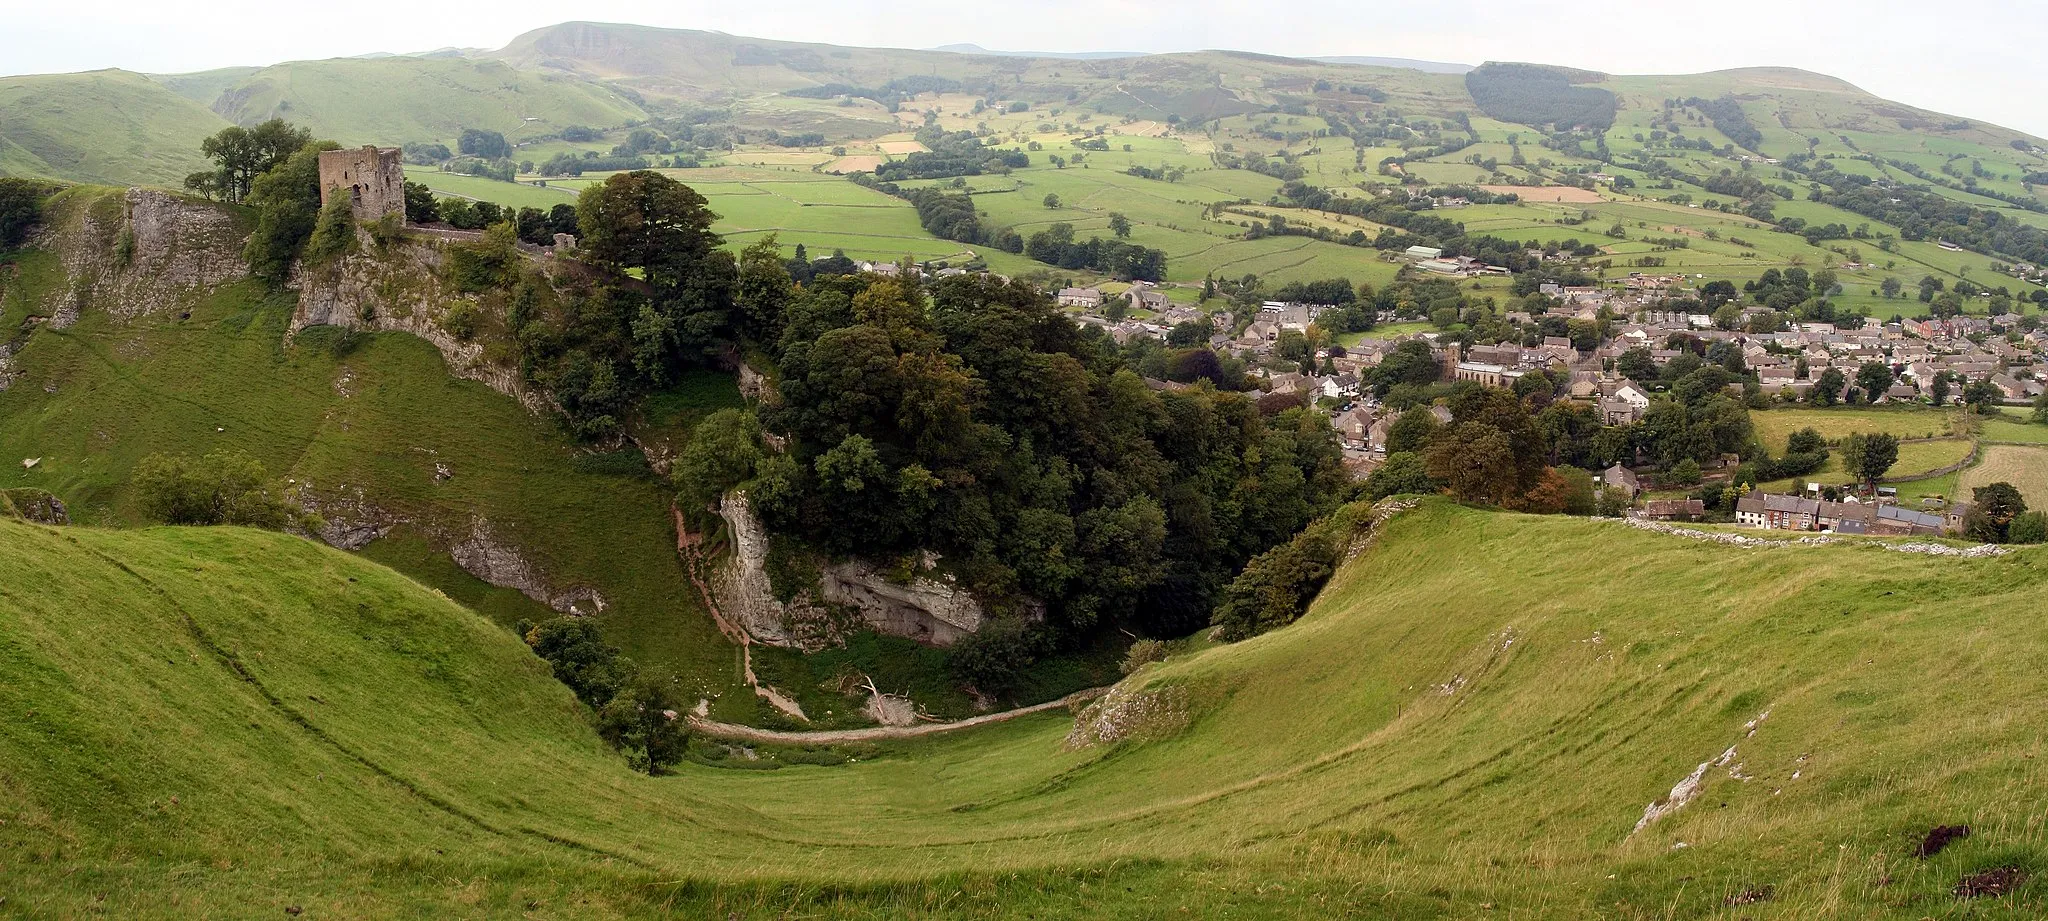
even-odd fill
[{"label": "smooth rounded pale-green hill at far left, behind the dark trees", "polygon": [[176,186],[205,168],[199,139],[223,127],[125,70],[0,78],[0,176]]}]

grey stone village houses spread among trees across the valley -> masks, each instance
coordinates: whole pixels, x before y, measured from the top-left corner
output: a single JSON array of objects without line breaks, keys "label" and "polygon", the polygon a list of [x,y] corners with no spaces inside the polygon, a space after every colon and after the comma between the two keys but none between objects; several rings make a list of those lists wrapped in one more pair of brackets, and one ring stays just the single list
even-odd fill
[{"label": "grey stone village houses spread among trees across the valley", "polygon": [[[1427,248],[1419,248],[1427,250]],[[1442,260],[1438,252],[1409,252],[1415,272],[1473,276],[1491,266]],[[2017,315],[1958,315],[1948,319],[1853,317],[1841,323],[1794,323],[1782,332],[1726,330],[1716,315],[1665,309],[1675,293],[1688,291],[1690,278],[1677,274],[1630,274],[1599,287],[1542,284],[1538,295],[1544,313],[1505,311],[1503,319],[1522,330],[1518,342],[1470,344],[1436,330],[1413,330],[1403,323],[1413,317],[1378,315],[1376,323],[1403,323],[1411,332],[1376,338],[1370,332],[1337,346],[1333,340],[1315,348],[1311,360],[1294,362],[1276,354],[1284,336],[1305,336],[1311,325],[1337,305],[1266,301],[1249,323],[1229,311],[1204,311],[1169,299],[1153,284],[1137,282],[1122,293],[1092,287],[1061,289],[1059,305],[1083,325],[1102,327],[1118,344],[1137,338],[1165,340],[1184,323],[1208,327],[1206,346],[1219,354],[1237,356],[1262,391],[1298,395],[1321,407],[1343,440],[1346,461],[1354,475],[1364,477],[1389,456],[1389,434],[1401,415],[1384,405],[1370,385],[1372,368],[1409,342],[1421,342],[1440,366],[1442,383],[1475,383],[1513,389],[1532,372],[1559,383],[1559,399],[1583,401],[1597,411],[1604,426],[1642,422],[1661,399],[1655,379],[1634,381],[1622,368],[1645,370],[1647,356],[1655,370],[1692,348],[1694,354],[1737,352],[1739,366],[1753,375],[1731,383],[1735,397],[1753,407],[1765,405],[1931,405],[1935,391],[1946,403],[1962,401],[1964,387],[1989,385],[1993,401],[2023,405],[2044,393],[2036,375],[2036,358],[2048,354],[2048,327],[2021,323]],[[1690,293],[1690,291],[1688,291]],[[1743,307],[1743,323],[1769,313],[1765,307]],[[1563,336],[1540,336],[1542,317],[1567,317],[1597,323],[1608,330],[1593,348],[1579,348]],[[1116,317],[1116,319],[1112,319]],[[1145,319],[1135,319],[1145,317]],[[2032,330],[2025,330],[2032,327]],[[1319,340],[1325,340],[1321,336]],[[1632,354],[1634,352],[1634,354]],[[1630,356],[1632,360],[1624,360]],[[1860,370],[1882,364],[1890,370],[1882,393],[1860,393]],[[1319,372],[1305,372],[1309,366]],[[1829,375],[1833,370],[1835,375]],[[1942,379],[1942,385],[1935,383]],[[1823,381],[1833,393],[1817,395]],[[1184,387],[1155,381],[1155,387]],[[1430,407],[1440,422],[1450,422],[1442,405]],[[1724,456],[1724,467],[1741,458]],[[1733,487],[1733,485],[1731,485]],[[1595,489],[1614,491],[1634,518],[1702,520],[1700,499],[1647,497],[1636,471],[1614,465],[1595,475]],[[1806,483],[1798,495],[1749,489],[1733,501],[1733,524],[1767,530],[1804,530],[1837,534],[1948,534],[1956,532],[1968,514],[1968,503],[1939,508],[1905,508],[1890,487],[1853,495],[1823,483]]]}]

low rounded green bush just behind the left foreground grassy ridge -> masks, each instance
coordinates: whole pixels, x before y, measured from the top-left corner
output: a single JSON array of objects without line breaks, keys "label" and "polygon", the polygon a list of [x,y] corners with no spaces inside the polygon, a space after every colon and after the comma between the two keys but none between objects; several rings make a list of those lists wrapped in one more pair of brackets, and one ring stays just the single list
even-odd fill
[{"label": "low rounded green bush just behind the left foreground grassy ridge", "polygon": [[203,458],[150,454],[135,465],[143,514],[164,524],[305,526],[305,512],[285,499],[262,463],[240,450]]}]

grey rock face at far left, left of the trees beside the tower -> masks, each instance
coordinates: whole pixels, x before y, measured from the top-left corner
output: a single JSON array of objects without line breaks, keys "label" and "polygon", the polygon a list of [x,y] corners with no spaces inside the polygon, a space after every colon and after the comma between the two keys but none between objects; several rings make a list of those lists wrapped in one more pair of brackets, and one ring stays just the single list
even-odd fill
[{"label": "grey rock face at far left, left of the trees beside the tower", "polygon": [[199,295],[248,274],[236,215],[154,188],[82,203],[74,221],[51,221],[37,246],[55,252],[66,284],[39,305],[63,330],[88,307],[123,319],[184,309]]}]

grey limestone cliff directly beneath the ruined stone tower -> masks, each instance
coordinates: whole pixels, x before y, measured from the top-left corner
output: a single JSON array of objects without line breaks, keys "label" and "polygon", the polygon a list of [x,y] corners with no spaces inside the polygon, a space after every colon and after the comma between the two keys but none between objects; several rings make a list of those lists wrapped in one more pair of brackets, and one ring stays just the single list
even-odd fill
[{"label": "grey limestone cliff directly beneath the ruined stone tower", "polygon": [[442,280],[444,248],[451,244],[418,235],[383,244],[369,239],[369,233],[360,237],[356,252],[317,266],[293,266],[289,284],[299,291],[299,309],[291,315],[293,336],[309,325],[412,334],[440,350],[455,377],[518,399],[526,409],[545,411],[547,401],[520,385],[516,368],[494,362],[483,342],[449,332],[451,309],[477,309],[475,297]]}]

